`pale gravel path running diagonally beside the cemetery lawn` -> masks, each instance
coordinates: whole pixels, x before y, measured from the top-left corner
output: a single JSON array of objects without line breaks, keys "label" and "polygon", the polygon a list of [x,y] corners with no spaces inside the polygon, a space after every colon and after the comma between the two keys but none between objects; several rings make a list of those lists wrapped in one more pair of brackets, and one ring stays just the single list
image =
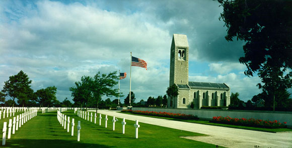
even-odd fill
[{"label": "pale gravel path running diagonally beside the cemetery lawn", "polygon": [[[151,117],[135,116],[118,113],[117,111],[98,110],[98,113],[126,118],[127,120],[139,120],[139,122],[165,126],[180,130],[206,134],[208,136],[185,137],[206,143],[212,143],[225,147],[290,147],[292,148],[292,132],[269,133],[245,129],[227,128],[220,126],[203,125],[158,119]],[[141,127],[142,128],[142,127]]]}]

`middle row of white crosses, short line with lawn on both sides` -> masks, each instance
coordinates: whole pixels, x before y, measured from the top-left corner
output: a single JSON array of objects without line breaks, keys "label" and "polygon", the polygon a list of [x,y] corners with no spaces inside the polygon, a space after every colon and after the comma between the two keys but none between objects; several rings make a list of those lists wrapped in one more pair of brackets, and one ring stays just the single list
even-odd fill
[{"label": "middle row of white crosses, short line with lawn on both sides", "polygon": [[[69,132],[70,129],[70,117],[67,117],[67,115],[64,115],[60,112],[60,110],[57,111],[57,119],[60,122],[60,124],[62,125],[62,127],[64,127],[64,129],[67,128],[67,132]],[[71,136],[74,136],[74,118],[72,118],[72,122],[71,122]],[[67,126],[66,126],[67,124]],[[80,130],[81,130],[81,122],[78,121],[78,126],[77,126],[77,141],[80,141]]]}]

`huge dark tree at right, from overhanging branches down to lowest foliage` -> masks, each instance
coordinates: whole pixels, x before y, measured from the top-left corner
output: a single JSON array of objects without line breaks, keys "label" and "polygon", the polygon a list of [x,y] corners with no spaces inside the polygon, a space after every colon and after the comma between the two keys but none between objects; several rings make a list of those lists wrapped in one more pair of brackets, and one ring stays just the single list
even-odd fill
[{"label": "huge dark tree at right, from overhanging branches down to lowest foliage", "polygon": [[292,82],[292,71],[287,72],[292,68],[292,1],[218,2],[224,7],[220,19],[228,28],[226,40],[237,37],[245,41],[245,56],[239,58],[247,66],[245,75],[258,71],[264,84],[258,87],[267,95],[263,98],[266,106],[275,106],[280,96],[286,103],[287,97],[283,97]]}]

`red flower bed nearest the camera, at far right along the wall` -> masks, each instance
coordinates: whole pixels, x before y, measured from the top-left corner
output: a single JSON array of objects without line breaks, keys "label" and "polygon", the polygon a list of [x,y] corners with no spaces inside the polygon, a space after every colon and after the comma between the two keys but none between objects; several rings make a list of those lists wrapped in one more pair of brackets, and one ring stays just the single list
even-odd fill
[{"label": "red flower bed nearest the camera, at far right along the wall", "polygon": [[213,117],[210,122],[215,123],[223,123],[223,124],[232,124],[232,125],[243,125],[243,126],[253,126],[253,127],[263,127],[263,128],[284,128],[286,127],[287,122],[280,123],[277,120],[269,121],[269,120],[261,120],[254,118],[231,118],[227,117]]}]

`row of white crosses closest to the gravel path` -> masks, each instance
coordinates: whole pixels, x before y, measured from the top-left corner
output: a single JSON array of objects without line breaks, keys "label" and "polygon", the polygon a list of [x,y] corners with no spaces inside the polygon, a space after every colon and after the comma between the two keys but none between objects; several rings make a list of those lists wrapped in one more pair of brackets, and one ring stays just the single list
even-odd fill
[{"label": "row of white crosses closest to the gravel path", "polygon": [[[85,120],[86,120],[86,115],[87,115],[88,116],[87,119],[89,121],[89,112],[78,110],[77,115]],[[95,117],[94,123],[96,124],[96,113],[95,113],[94,117]],[[101,120],[102,120],[102,117],[101,117],[101,114],[99,114],[99,125],[101,125]],[[105,120],[105,128],[107,128],[107,121],[108,121],[107,115],[105,115],[104,120]],[[115,130],[115,122],[116,121],[118,121],[118,119],[115,118],[115,116],[113,116],[113,119],[112,119],[113,130]],[[91,112],[91,122],[92,122],[92,112]],[[122,129],[123,129],[122,133],[124,134],[125,133],[125,125],[126,125],[125,118],[123,118],[123,121],[121,123],[122,123]],[[135,127],[135,138],[138,138],[138,128],[140,127],[138,120],[135,121],[134,127]]]}]

